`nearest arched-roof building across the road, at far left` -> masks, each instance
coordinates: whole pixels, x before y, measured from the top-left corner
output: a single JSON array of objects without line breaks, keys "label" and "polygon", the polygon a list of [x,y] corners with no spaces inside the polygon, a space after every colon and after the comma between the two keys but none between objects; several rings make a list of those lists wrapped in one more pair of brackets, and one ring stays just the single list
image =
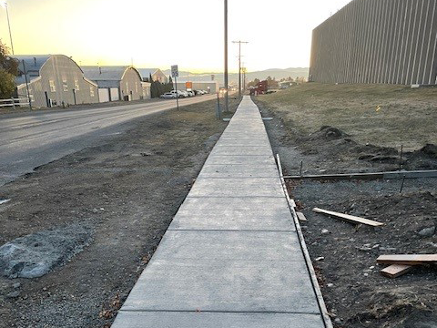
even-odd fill
[{"label": "nearest arched-roof building across the road, at far left", "polygon": [[29,96],[34,108],[98,102],[97,84],[84,77],[76,62],[64,55],[14,56],[20,61],[16,96]]}]

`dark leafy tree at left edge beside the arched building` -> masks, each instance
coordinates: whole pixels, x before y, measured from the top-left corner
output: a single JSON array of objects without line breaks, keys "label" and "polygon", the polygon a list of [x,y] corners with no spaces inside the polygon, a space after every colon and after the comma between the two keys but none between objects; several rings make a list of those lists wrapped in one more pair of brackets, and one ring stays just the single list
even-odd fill
[{"label": "dark leafy tree at left edge beside the arched building", "polygon": [[9,49],[0,40],[0,98],[11,97],[15,91],[15,77],[19,61],[9,56]]}]

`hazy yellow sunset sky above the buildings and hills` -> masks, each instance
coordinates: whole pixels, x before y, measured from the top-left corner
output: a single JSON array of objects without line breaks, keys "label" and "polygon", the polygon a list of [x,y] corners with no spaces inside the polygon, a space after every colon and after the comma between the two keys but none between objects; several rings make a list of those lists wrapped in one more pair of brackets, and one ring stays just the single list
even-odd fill
[{"label": "hazy yellow sunset sky above the buildings and hills", "polygon": [[[1,2],[1,0],[0,0]],[[229,70],[308,67],[311,30],[350,0],[229,0]],[[8,0],[15,54],[223,70],[223,0]],[[5,8],[0,38],[9,46]]]}]

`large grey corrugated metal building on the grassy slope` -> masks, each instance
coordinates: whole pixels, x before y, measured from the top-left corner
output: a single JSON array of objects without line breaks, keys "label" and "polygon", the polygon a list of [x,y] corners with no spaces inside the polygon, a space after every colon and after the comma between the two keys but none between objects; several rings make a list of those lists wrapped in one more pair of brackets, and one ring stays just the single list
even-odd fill
[{"label": "large grey corrugated metal building on the grassy slope", "polygon": [[312,32],[310,81],[437,84],[437,0],[353,0]]}]

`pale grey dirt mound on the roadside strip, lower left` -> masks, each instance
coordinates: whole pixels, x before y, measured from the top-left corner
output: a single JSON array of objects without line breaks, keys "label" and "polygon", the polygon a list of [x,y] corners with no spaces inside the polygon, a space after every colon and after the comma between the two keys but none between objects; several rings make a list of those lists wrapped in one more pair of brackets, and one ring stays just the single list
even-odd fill
[{"label": "pale grey dirt mound on the roadside strip, lower left", "polygon": [[82,251],[90,238],[91,231],[76,224],[16,238],[0,247],[0,274],[41,277]]}]

